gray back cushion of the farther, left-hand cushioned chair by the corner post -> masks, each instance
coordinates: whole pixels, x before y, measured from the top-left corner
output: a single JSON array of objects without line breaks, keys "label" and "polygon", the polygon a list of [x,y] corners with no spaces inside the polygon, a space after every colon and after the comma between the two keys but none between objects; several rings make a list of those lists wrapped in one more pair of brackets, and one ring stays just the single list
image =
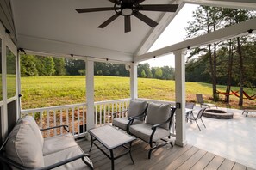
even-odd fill
[{"label": "gray back cushion of the farther, left-hand cushioned chair by the corner post", "polygon": [[138,116],[145,111],[147,107],[147,101],[130,100],[128,107],[128,118],[132,116]]}]

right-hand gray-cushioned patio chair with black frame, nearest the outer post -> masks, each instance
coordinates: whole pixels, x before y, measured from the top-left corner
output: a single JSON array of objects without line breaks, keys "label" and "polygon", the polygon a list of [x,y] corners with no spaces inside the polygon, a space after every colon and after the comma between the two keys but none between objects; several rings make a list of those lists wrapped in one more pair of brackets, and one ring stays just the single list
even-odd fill
[{"label": "right-hand gray-cushioned patio chair with black frame, nearest the outer post", "polygon": [[[158,149],[166,144],[171,144],[173,147],[170,140],[170,128],[174,112],[175,108],[171,108],[171,105],[150,103],[147,106],[146,122],[133,124],[135,118],[132,118],[129,133],[150,144],[148,159],[150,159],[154,149]],[[169,139],[166,139],[166,137]],[[164,143],[157,143],[160,140]]]}]

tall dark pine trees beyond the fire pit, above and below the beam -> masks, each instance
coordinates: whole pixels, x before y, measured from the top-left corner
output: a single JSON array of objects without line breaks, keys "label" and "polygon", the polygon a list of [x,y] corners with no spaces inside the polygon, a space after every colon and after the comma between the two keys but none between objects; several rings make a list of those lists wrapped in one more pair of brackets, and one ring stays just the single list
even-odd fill
[{"label": "tall dark pine trees beyond the fire pit, above and below the beam", "polygon": [[[199,6],[193,18],[195,21],[190,21],[185,28],[188,39],[253,19],[255,12]],[[253,30],[248,30],[248,33],[191,50],[186,66],[186,80],[212,83],[214,100],[218,100],[217,84],[225,84],[227,94],[231,92],[231,86],[239,86],[239,105],[242,106],[243,88],[256,86],[255,34]],[[226,101],[229,102],[229,95]]]}]

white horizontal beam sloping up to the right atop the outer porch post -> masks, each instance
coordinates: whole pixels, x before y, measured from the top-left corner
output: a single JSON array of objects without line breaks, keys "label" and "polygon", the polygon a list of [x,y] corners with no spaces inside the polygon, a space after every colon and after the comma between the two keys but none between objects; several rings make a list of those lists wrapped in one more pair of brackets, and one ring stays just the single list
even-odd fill
[{"label": "white horizontal beam sloping up to the right atop the outer porch post", "polygon": [[165,54],[177,51],[177,50],[185,49],[188,47],[194,48],[197,46],[208,45],[208,44],[218,42],[218,41],[221,41],[224,39],[230,39],[230,38],[245,34],[250,29],[253,29],[254,31],[256,30],[256,18],[253,20],[241,22],[234,26],[230,26],[230,27],[226,27],[226,28],[217,30],[212,33],[204,34],[197,38],[187,39],[178,44],[175,44],[172,46],[166,46],[164,48],[161,48],[161,49],[153,51],[153,52],[148,52],[146,54],[135,57],[134,62],[145,61],[147,59],[153,58],[154,56],[160,57],[162,55],[165,55]]}]

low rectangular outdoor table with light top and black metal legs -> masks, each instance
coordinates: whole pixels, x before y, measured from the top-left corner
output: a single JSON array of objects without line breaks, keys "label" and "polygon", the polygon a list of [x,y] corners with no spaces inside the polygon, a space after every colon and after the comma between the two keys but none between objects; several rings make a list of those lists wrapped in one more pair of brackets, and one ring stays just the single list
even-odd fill
[{"label": "low rectangular outdoor table with light top and black metal legs", "polygon": [[[103,152],[104,155],[106,155],[111,160],[112,170],[114,170],[114,161],[122,157],[123,155],[129,154],[131,160],[134,163],[133,157],[131,155],[131,146],[132,146],[132,142],[136,139],[135,137],[130,136],[125,132],[119,131],[110,125],[97,127],[97,128],[88,130],[88,132],[91,135],[91,148],[92,148],[92,145],[94,144],[98,149],[100,149]],[[97,145],[97,143],[95,143],[95,141],[102,143],[106,149],[109,149],[110,155],[106,153],[103,149],[101,149]],[[128,146],[125,146],[125,144],[127,143],[129,143]],[[127,151],[114,157],[113,149],[116,149],[121,146],[127,149]],[[91,148],[89,152],[91,151]]]}]

